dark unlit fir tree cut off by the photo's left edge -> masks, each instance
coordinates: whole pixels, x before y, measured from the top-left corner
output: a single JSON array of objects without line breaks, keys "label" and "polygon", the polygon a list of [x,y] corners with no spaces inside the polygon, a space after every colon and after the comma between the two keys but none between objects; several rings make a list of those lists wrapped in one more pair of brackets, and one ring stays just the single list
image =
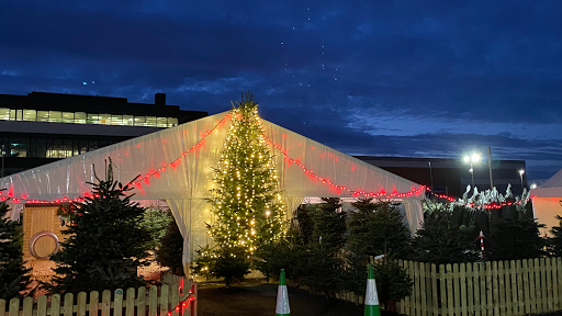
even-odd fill
[{"label": "dark unlit fir tree cut off by the photo's left edge", "polygon": [[0,202],[0,298],[19,297],[30,282],[23,262],[23,233],[18,221],[7,218],[8,203]]}]

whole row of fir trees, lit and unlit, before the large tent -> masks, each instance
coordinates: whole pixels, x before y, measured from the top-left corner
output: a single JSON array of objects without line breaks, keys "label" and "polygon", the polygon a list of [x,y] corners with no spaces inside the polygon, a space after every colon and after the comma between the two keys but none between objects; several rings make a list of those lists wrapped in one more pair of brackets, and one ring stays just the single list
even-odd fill
[{"label": "whole row of fir trees, lit and unlit, before the large tent", "polygon": [[[375,264],[375,278],[380,298],[389,304],[412,289],[412,280],[395,259],[440,264],[562,255],[562,229],[554,227],[554,238],[548,241],[538,234],[542,226],[522,215],[494,223],[486,236],[490,247],[484,258],[475,225],[463,225],[445,206],[425,212],[415,237],[398,204],[372,199],[358,200],[348,212],[339,199],[325,198],[319,204],[301,205],[288,222],[274,157],[257,115],[258,104],[247,94],[237,105],[233,106],[209,200],[212,221],[207,230],[215,246],[198,251],[193,267],[198,274],[224,278],[229,285],[250,268],[268,279],[285,269],[291,284],[306,285],[331,300],[339,290],[363,294],[367,264],[372,257],[385,255],[383,262]],[[148,263],[150,250],[161,264],[183,273],[183,238],[175,221],[159,213],[147,215],[146,208],[132,202],[134,180],[125,185],[115,181],[111,160],[105,179],[95,179],[97,183],[90,183],[91,198],[65,211],[69,225],[64,234],[68,238],[61,242],[61,251],[52,256],[58,276],[46,286],[56,293],[76,293],[144,285],[137,268]],[[16,296],[29,283],[21,256],[21,225],[9,221],[7,212],[2,202],[1,298]],[[161,227],[167,227],[164,236]]]}]

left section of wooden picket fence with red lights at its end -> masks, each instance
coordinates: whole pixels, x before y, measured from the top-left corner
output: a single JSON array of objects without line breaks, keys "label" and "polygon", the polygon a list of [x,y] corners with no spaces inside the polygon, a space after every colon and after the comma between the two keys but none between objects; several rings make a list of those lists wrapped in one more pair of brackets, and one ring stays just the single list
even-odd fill
[{"label": "left section of wooden picket fence with red lights at its end", "polygon": [[[0,316],[196,316],[196,283],[184,278],[164,275],[161,286],[117,289],[113,293],[80,292],[41,295],[34,303],[33,297],[0,300]],[[184,287],[184,285],[188,285]],[[112,295],[113,294],[113,295]],[[75,304],[76,302],[76,304]],[[8,309],[7,309],[8,307]]]}]

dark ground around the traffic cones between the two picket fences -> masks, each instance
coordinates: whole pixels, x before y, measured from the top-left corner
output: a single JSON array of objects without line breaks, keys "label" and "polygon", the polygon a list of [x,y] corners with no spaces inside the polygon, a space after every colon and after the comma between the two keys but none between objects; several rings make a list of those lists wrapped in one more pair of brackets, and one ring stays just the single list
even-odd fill
[{"label": "dark ground around the traffic cones between the two picket fences", "polygon": [[[224,283],[200,283],[198,315],[224,316],[276,315],[277,285],[246,281],[226,289]],[[323,296],[303,290],[289,290],[291,315],[336,316],[363,315],[362,306],[346,302],[330,305]]]}]

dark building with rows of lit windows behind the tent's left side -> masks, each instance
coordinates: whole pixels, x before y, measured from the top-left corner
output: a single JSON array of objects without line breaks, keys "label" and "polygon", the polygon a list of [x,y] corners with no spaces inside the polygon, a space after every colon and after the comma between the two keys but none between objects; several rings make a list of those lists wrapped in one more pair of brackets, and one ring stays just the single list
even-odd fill
[{"label": "dark building with rows of lit windows behind the tent's left side", "polygon": [[0,177],[80,155],[156,131],[207,116],[125,98],[32,92],[0,94]]}]

